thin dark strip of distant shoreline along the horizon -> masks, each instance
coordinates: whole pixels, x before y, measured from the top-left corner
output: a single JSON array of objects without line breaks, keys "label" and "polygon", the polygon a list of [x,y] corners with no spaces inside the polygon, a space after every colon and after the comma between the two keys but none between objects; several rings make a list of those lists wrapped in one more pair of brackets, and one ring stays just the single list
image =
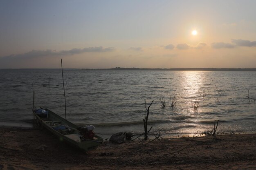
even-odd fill
[{"label": "thin dark strip of distant shoreline along the horizon", "polygon": [[[18,69],[61,69],[61,68],[0,68],[0,70]],[[123,70],[123,71],[256,71],[256,68],[64,68],[65,70]]]}]

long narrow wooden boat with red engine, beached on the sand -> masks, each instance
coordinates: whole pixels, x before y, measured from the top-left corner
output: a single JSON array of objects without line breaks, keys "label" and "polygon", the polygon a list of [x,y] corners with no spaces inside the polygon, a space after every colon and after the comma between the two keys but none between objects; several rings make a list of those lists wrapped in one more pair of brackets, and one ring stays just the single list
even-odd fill
[{"label": "long narrow wooden boat with red engine, beached on the sand", "polygon": [[[60,141],[66,141],[68,144],[84,151],[96,149],[102,144],[103,139],[94,135],[91,129],[93,126],[78,127],[49,109],[41,108],[41,110],[36,109],[33,112],[38,124],[52,132]],[[86,136],[84,132],[89,132],[89,135]]]}]

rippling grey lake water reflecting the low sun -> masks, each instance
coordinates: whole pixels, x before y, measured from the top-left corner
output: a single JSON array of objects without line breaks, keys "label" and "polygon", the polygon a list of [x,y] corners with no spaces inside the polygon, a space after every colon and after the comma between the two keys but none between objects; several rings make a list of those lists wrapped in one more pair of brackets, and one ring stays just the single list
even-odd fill
[{"label": "rippling grey lake water reflecting the low sun", "polygon": [[[256,130],[256,72],[245,71],[64,71],[67,119],[92,124],[101,135],[143,132],[144,99],[149,127],[165,134]],[[50,78],[48,86],[48,79]],[[45,87],[43,86],[45,85]],[[61,69],[0,70],[0,121],[31,119],[33,107],[65,117]],[[205,96],[204,92],[205,91]],[[159,95],[164,95],[162,108]],[[170,95],[176,97],[170,107]],[[194,103],[199,102],[198,109]]]}]

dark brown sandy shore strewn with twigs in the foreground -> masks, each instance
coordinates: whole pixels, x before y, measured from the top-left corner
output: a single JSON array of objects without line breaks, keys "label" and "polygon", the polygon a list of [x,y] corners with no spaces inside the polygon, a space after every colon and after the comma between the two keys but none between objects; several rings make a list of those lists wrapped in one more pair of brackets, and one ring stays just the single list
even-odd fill
[{"label": "dark brown sandy shore strewn with twigs in the foreground", "polygon": [[[181,150],[181,151],[179,151]],[[256,134],[106,141],[87,153],[45,129],[0,128],[0,170],[256,169]]]}]

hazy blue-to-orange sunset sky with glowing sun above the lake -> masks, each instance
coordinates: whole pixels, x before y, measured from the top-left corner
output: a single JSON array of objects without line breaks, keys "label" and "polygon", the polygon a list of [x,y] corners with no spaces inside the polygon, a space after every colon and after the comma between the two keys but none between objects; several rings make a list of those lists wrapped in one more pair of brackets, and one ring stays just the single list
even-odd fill
[{"label": "hazy blue-to-orange sunset sky with glowing sun above the lake", "polygon": [[60,68],[61,59],[64,68],[256,68],[255,7],[256,0],[0,0],[0,68]]}]

